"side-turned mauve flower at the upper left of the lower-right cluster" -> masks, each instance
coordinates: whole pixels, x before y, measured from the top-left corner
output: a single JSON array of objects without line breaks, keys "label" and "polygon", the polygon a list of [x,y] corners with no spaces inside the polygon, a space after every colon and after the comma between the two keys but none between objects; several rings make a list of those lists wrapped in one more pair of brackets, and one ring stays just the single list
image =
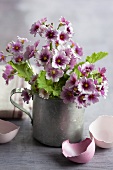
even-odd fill
[{"label": "side-turned mauve flower at the upper left of the lower-right cluster", "polygon": [[73,88],[76,84],[77,84],[78,80],[77,80],[77,76],[75,73],[72,73],[70,75],[70,78],[66,81],[66,88]]}]

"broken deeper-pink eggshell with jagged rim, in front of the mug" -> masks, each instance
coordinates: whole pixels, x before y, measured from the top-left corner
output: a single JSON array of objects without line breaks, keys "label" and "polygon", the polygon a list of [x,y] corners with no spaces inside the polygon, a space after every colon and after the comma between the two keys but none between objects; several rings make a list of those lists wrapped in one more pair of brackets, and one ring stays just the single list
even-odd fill
[{"label": "broken deeper-pink eggshell with jagged rim, in front of the mug", "polygon": [[73,144],[66,140],[62,143],[62,153],[70,161],[87,163],[93,158],[95,153],[94,139],[86,138],[79,143]]}]

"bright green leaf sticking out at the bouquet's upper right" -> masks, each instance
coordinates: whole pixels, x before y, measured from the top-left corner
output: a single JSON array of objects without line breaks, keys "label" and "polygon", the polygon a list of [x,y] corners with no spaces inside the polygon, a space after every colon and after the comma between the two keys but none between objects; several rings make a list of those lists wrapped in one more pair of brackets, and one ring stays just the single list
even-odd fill
[{"label": "bright green leaf sticking out at the bouquet's upper right", "polygon": [[93,53],[91,56],[87,56],[86,61],[88,61],[89,63],[95,63],[95,62],[97,62],[98,60],[101,60],[102,58],[104,58],[107,55],[108,55],[107,52]]}]

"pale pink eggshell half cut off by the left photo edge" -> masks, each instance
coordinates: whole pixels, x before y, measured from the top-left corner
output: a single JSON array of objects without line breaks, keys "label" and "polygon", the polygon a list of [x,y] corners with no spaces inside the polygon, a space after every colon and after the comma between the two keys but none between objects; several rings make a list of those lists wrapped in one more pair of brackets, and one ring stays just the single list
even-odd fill
[{"label": "pale pink eggshell half cut off by the left photo edge", "polygon": [[0,143],[11,141],[18,133],[19,126],[0,119]]}]

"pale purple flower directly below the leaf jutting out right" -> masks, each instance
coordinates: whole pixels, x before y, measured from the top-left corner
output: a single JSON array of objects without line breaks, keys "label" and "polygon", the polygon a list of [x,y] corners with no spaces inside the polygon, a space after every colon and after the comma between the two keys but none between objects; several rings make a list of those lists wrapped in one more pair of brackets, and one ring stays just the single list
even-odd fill
[{"label": "pale purple flower directly below the leaf jutting out right", "polygon": [[84,75],[87,76],[91,71],[94,70],[94,64],[90,64],[89,62],[86,62],[82,64],[81,66],[78,66],[78,70]]}]

